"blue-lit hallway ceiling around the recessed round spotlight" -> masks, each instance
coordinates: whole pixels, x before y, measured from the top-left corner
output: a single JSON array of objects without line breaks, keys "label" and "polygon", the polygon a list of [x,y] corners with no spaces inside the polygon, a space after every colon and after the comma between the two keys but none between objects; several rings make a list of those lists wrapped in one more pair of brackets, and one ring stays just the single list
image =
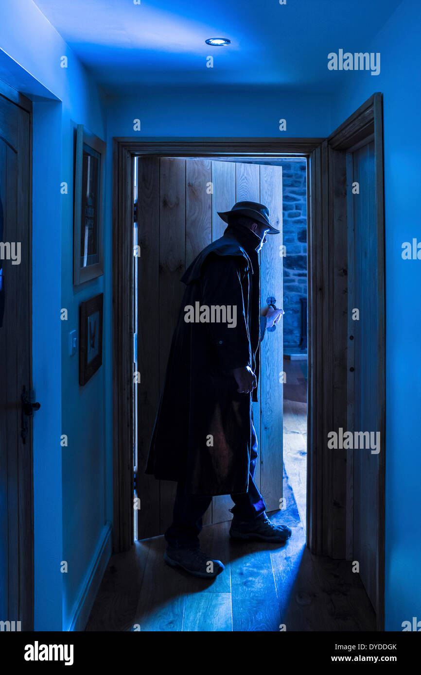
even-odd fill
[{"label": "blue-lit hallway ceiling around the recessed round spotlight", "polygon": [[[329,92],[330,51],[370,51],[400,0],[36,0],[109,93],[142,84],[283,85]],[[205,39],[227,37],[227,47]],[[206,57],[214,68],[206,68]],[[369,73],[366,74],[370,76]]]}]

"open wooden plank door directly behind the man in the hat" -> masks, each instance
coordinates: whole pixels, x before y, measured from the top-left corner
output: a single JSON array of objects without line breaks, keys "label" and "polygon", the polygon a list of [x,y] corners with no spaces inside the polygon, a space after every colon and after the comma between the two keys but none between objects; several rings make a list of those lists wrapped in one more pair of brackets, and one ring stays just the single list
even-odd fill
[{"label": "open wooden plank door directly behind the man in the hat", "polygon": [[[222,236],[218,211],[252,200],[268,206],[282,230],[282,169],[236,161],[141,157],[137,175],[138,268],[137,394],[138,538],[164,533],[172,520],[176,483],[144,474],[172,333],[184,292],[180,277],[197,254]],[[268,237],[261,253],[261,304],[282,307],[282,234]],[[282,323],[262,343],[259,404],[253,418],[259,442],[256,483],[268,510],[282,497]],[[214,497],[203,522],[229,520],[229,495]]]}]

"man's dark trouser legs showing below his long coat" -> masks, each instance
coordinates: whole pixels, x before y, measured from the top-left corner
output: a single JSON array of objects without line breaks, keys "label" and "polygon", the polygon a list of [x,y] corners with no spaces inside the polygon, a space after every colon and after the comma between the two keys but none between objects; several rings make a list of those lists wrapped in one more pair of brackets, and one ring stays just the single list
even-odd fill
[{"label": "man's dark trouser legs showing below his long coat", "polygon": [[[257,460],[257,437],[253,424],[251,425],[251,452],[249,464],[249,489],[241,494],[230,495],[234,507],[230,509],[239,520],[253,520],[266,510],[266,504],[259,493],[254,474]],[[210,496],[189,495],[185,491],[184,483],[177,483],[177,493],[174,502],[173,521],[165,533],[170,548],[198,548],[199,534],[202,529],[202,516],[212,502]]]}]

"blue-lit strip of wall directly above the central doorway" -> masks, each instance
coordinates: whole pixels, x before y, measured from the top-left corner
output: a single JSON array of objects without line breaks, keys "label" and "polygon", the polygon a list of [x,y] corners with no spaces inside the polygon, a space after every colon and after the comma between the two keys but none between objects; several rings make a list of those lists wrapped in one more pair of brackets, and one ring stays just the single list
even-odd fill
[{"label": "blue-lit strip of wall directly above the central doorway", "polygon": [[[290,138],[330,133],[330,97],[260,86],[147,86],[107,98],[108,137],[216,136]],[[141,130],[133,130],[140,119]],[[285,131],[279,120],[287,121]]]}]

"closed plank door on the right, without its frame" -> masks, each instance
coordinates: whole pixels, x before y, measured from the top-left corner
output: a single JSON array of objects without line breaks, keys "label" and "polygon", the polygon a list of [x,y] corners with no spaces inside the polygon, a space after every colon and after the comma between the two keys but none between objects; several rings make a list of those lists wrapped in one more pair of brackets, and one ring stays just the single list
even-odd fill
[{"label": "closed plank door on the right, without its frame", "polygon": [[[382,519],[379,512],[380,472],[384,454],[381,433],[382,369],[381,308],[378,294],[376,165],[374,140],[347,152],[349,343],[348,429],[376,432],[378,447],[348,451],[349,557],[360,565],[368,597],[378,608],[380,593],[379,546]],[[352,186],[357,186],[353,194]],[[355,192],[355,188],[354,188]],[[351,339],[352,338],[352,339]],[[380,378],[380,379],[379,379]],[[371,441],[371,439],[370,439]],[[377,443],[375,443],[377,446]],[[384,497],[383,497],[384,498]]]}]

